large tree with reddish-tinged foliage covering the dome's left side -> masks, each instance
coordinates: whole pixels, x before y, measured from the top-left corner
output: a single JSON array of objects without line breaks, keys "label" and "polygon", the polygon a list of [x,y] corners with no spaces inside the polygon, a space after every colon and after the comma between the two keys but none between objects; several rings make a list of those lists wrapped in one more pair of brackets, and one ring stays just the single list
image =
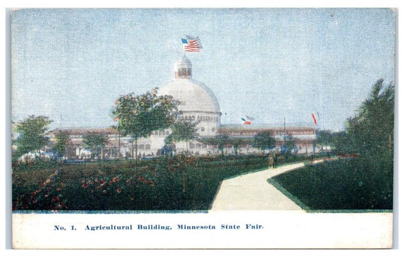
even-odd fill
[{"label": "large tree with reddish-tinged foliage covering the dome's left side", "polygon": [[147,137],[155,130],[170,127],[175,121],[179,102],[170,95],[157,95],[157,88],[142,95],[129,93],[115,101],[114,121],[122,135],[130,135],[135,141],[137,166],[137,139]]}]

